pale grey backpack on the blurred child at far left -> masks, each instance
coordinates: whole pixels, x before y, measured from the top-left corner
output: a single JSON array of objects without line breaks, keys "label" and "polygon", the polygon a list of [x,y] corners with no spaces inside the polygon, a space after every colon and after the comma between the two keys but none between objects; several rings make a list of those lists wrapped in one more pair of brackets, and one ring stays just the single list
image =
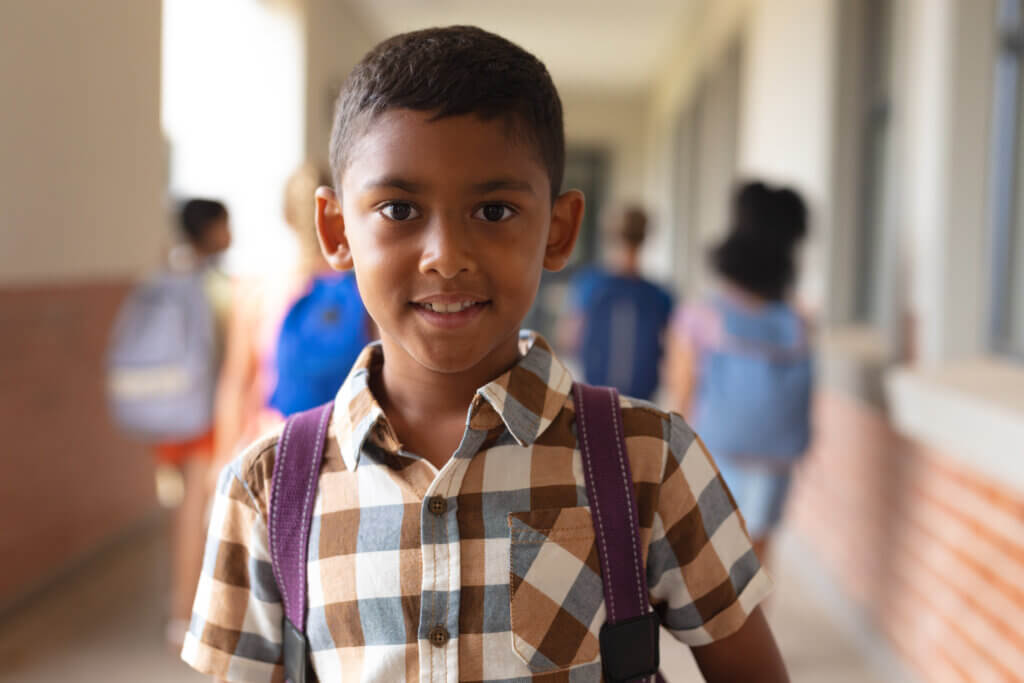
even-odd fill
[{"label": "pale grey backpack on the blurred child at far left", "polygon": [[153,441],[210,429],[217,339],[203,278],[163,272],[122,303],[106,357],[108,399],[122,429]]}]

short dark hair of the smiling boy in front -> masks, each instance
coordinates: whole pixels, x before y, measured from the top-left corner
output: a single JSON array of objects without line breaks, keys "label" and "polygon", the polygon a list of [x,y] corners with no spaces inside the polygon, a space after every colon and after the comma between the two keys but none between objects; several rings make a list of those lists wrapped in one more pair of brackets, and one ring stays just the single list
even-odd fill
[{"label": "short dark hair of the smiling boy in front", "polygon": [[404,33],[385,40],[352,69],[335,108],[331,171],[336,185],[352,143],[391,109],[433,112],[433,119],[475,114],[501,118],[534,144],[552,199],[565,166],[562,103],[540,59],[501,36],[470,26]]}]

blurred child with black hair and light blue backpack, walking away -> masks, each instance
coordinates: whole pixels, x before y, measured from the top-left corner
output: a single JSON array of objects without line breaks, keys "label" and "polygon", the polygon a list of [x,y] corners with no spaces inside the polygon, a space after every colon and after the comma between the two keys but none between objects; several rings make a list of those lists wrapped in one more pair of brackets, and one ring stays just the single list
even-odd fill
[{"label": "blurred child with black hair and light blue backpack, walking away", "polygon": [[715,454],[762,560],[810,438],[808,328],[786,303],[806,233],[795,191],[742,185],[711,254],[719,287],[679,311],[670,341],[675,405]]}]

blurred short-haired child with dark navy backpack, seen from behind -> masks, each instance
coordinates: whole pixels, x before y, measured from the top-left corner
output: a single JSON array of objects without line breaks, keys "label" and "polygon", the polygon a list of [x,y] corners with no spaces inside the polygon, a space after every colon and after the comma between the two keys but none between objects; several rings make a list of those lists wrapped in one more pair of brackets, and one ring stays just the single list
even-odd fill
[{"label": "blurred short-haired child with dark navy backpack, seen from behind", "polygon": [[588,382],[647,400],[657,388],[672,295],[640,274],[644,210],[616,207],[603,218],[605,266],[572,279],[560,341],[579,353]]}]

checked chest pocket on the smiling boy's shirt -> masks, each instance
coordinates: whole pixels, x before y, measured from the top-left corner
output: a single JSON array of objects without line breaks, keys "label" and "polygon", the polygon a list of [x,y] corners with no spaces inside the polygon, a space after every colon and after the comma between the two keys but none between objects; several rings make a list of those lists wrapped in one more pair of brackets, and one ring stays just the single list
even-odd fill
[{"label": "checked chest pocket on the smiling boy's shirt", "polygon": [[508,523],[516,653],[535,673],[597,659],[604,593],[590,508],[513,512]]}]

